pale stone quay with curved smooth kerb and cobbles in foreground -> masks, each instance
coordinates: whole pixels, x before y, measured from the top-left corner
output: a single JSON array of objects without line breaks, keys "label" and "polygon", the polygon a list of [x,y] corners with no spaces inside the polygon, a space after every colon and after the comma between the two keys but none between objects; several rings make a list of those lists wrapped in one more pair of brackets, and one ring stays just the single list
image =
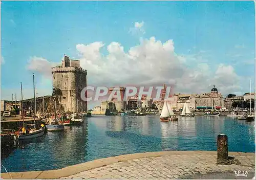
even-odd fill
[{"label": "pale stone quay with curved smooth kerb and cobbles in foreground", "polygon": [[[119,155],[57,170],[2,173],[4,179],[181,179],[231,178],[247,171],[252,179],[255,154],[229,152],[241,164],[217,165],[217,151],[161,151]],[[241,177],[243,178],[243,177]]]}]

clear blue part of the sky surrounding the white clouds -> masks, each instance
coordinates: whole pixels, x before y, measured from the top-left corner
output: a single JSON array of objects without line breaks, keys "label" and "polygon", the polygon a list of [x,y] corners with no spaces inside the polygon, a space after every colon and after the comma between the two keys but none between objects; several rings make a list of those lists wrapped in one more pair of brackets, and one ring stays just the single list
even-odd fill
[{"label": "clear blue part of the sky surrounding the white clouds", "polygon": [[[143,22],[142,27],[136,28],[135,22]],[[216,71],[220,64],[231,65],[233,74],[222,73],[222,76],[236,74],[237,86],[221,87],[217,79],[224,78],[220,77],[215,78],[215,85],[223,92],[228,89],[224,94],[241,92],[241,89],[246,92],[250,78],[254,87],[254,27],[253,2],[2,2],[2,99],[11,99],[12,93],[20,97],[20,81],[29,92],[25,98],[32,97],[33,72],[39,94],[51,93],[51,79],[38,70],[40,66],[33,71],[28,69],[35,57],[52,64],[60,63],[63,54],[67,54],[87,64],[88,56],[81,56],[83,50],[77,50],[76,45],[103,42],[105,46],[99,52],[105,57],[100,60],[105,62],[109,60],[107,47],[112,42],[120,43],[129,54],[130,48],[153,36],[162,43],[173,40],[174,54],[186,59],[179,68],[186,66],[186,70],[195,74],[199,63],[207,64],[208,72],[202,79],[219,76]],[[135,33],[130,31],[133,28]],[[152,54],[153,50],[145,52]],[[157,63],[161,58],[148,63]],[[88,70],[88,83],[97,84],[99,75],[92,73],[89,65],[83,68]],[[199,90],[209,91],[208,86],[205,84],[205,89]],[[179,92],[189,93],[189,89],[193,87],[183,89],[177,85]]]}]

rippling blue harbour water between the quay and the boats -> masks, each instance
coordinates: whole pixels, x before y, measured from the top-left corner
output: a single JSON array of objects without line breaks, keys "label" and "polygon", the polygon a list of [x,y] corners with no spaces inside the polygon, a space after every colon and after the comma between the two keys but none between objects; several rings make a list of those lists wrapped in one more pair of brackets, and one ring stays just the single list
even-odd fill
[{"label": "rippling blue harbour water between the quay and the boats", "polygon": [[59,169],[109,156],[166,150],[217,150],[217,136],[228,136],[229,151],[254,152],[253,123],[229,117],[93,116],[81,126],[2,148],[1,172]]}]

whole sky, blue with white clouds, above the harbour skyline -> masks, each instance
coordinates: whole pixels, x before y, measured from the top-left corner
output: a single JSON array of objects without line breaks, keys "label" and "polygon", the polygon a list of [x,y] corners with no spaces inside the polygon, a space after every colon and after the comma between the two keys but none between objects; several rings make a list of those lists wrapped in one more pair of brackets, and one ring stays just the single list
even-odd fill
[{"label": "whole sky, blue with white clouds, above the harbour skyline", "polygon": [[[80,60],[88,85],[254,92],[254,2],[2,2],[1,99],[52,94],[51,67]],[[92,105],[89,103],[89,107]]]}]

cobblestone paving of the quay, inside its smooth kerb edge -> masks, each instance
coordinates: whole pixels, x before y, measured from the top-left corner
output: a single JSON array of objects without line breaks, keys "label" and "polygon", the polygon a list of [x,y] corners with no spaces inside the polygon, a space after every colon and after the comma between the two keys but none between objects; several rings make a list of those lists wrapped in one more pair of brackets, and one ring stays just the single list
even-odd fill
[{"label": "cobblestone paving of the quay, inside its smooth kerb edge", "polygon": [[[61,178],[75,179],[177,179],[195,174],[248,171],[254,173],[254,156],[230,155],[242,165],[216,165],[217,155],[163,155],[122,161]],[[214,177],[212,177],[214,178]],[[221,178],[221,177],[220,177]]]}]

